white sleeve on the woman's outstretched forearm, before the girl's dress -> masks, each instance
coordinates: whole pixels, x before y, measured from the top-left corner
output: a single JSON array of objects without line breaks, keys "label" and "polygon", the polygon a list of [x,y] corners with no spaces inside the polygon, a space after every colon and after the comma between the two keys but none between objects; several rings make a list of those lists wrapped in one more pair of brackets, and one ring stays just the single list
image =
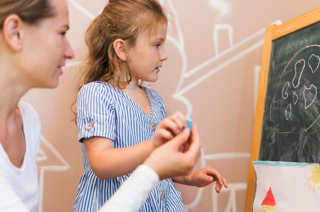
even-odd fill
[{"label": "white sleeve on the woman's outstretched forearm, before the girl's dress", "polygon": [[98,212],[138,211],[158,182],[159,176],[153,169],[140,165]]}]

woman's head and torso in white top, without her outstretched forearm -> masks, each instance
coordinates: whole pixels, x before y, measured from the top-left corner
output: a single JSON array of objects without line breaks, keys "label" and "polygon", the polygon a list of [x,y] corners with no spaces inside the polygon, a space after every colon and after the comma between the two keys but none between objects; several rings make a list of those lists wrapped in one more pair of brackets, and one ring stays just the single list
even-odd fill
[{"label": "woman's head and torso in white top, without her outstretched forearm", "polygon": [[0,2],[0,210],[35,211],[40,121],[20,98],[31,88],[55,88],[74,52],[65,0]]}]

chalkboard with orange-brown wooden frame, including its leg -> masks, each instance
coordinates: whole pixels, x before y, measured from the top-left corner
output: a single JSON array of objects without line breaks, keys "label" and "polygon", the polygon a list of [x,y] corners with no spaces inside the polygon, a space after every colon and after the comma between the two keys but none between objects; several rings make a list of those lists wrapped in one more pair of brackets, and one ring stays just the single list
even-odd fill
[{"label": "chalkboard with orange-brown wooden frame, including its leg", "polygon": [[268,26],[263,47],[245,211],[253,161],[320,163],[320,8]]}]

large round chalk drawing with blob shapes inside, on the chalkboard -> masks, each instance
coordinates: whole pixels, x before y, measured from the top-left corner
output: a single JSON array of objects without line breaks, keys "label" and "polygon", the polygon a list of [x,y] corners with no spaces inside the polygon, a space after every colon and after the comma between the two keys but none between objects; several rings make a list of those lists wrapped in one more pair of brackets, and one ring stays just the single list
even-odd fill
[{"label": "large round chalk drawing with blob shapes inside, on the chalkboard", "polygon": [[[286,124],[277,128],[279,133],[300,133],[310,129],[319,118],[317,116],[312,120],[308,119],[303,126],[300,124],[301,121],[296,119],[300,116],[302,110],[306,110],[306,114],[308,114],[310,107],[310,110],[313,110],[312,105],[317,98],[317,87],[314,85],[313,79],[317,77],[314,74],[317,73],[320,57],[315,53],[316,51],[320,52],[320,45],[307,45],[300,48],[290,58],[280,75],[275,95],[269,107],[270,120],[273,125],[283,123],[282,119],[287,120]],[[308,65],[306,65],[306,61],[308,61]],[[290,80],[288,77],[290,77],[292,71],[294,71],[294,74],[292,74],[293,77]],[[280,87],[281,85],[283,86]],[[279,89],[281,95],[279,95]],[[280,96],[282,100],[279,100]],[[300,127],[296,127],[298,125]]]}]

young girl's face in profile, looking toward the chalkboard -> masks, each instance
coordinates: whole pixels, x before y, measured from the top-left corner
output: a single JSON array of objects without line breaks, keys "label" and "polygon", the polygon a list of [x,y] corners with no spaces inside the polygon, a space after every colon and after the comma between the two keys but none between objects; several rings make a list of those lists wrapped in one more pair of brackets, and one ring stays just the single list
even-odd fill
[{"label": "young girl's face in profile, looking toward the chalkboard", "polygon": [[127,64],[132,78],[145,82],[155,82],[163,61],[167,60],[164,44],[167,37],[167,24],[161,25],[156,33],[147,32],[138,37],[134,48],[130,49]]}]

